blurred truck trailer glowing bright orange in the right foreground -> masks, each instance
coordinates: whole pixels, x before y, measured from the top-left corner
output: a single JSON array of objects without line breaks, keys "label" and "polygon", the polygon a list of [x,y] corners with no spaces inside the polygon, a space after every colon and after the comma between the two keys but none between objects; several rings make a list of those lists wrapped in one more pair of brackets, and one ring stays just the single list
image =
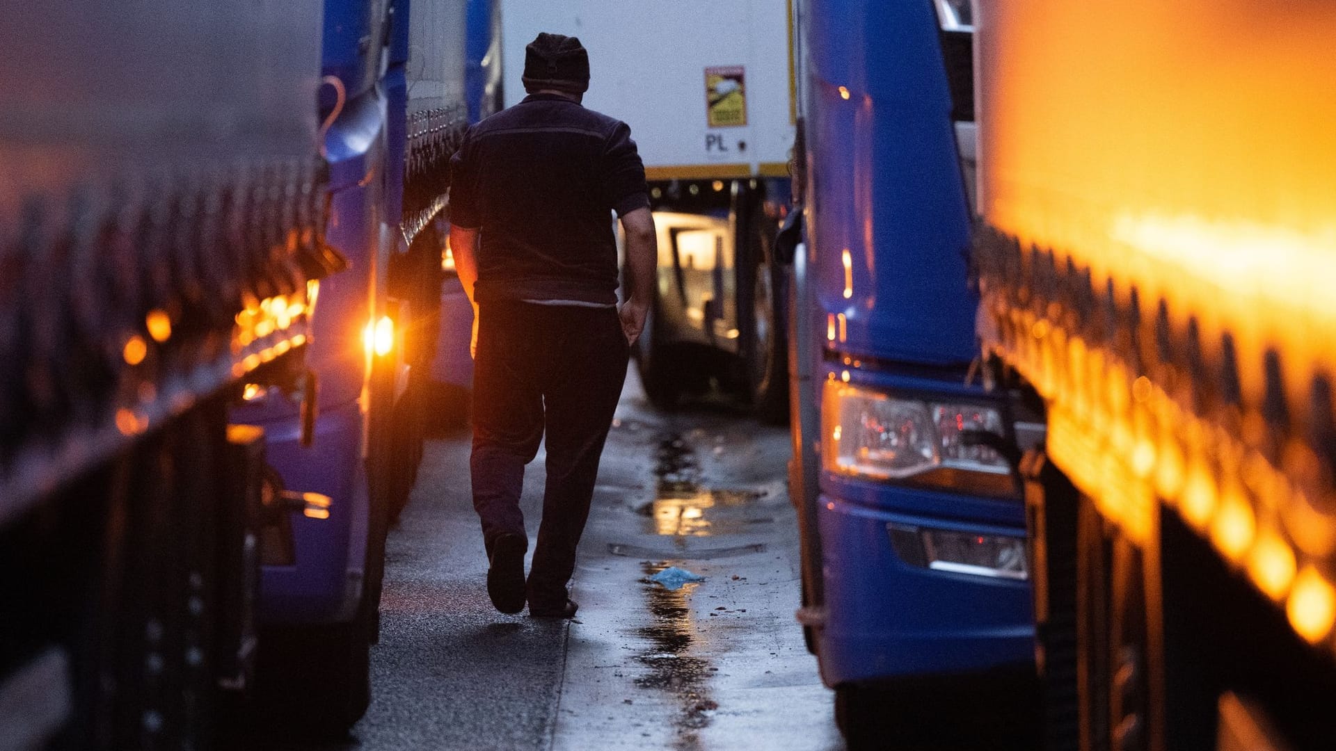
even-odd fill
[{"label": "blurred truck trailer glowing bright orange in the right foreground", "polygon": [[978,3],[979,333],[1047,748],[1336,743],[1325,4]]}]

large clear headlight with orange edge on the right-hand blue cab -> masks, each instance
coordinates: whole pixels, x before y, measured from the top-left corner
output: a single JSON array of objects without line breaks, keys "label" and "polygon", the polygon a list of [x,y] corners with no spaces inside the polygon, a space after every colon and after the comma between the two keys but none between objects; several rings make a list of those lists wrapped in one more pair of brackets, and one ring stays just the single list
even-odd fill
[{"label": "large clear headlight with orange edge on the right-hand blue cab", "polygon": [[927,401],[827,381],[822,458],[838,474],[978,493],[1015,494],[1011,468],[970,433],[1002,433],[986,405]]}]

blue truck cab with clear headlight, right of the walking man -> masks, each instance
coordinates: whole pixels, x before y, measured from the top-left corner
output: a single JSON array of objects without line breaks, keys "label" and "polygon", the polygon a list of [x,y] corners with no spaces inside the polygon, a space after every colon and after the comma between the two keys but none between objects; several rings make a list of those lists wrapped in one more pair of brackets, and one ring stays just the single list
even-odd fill
[{"label": "blue truck cab with clear headlight, right of the walking man", "polygon": [[1033,673],[1025,512],[998,450],[1010,406],[970,378],[967,11],[811,0],[799,13],[800,620],[854,746],[882,690]]}]

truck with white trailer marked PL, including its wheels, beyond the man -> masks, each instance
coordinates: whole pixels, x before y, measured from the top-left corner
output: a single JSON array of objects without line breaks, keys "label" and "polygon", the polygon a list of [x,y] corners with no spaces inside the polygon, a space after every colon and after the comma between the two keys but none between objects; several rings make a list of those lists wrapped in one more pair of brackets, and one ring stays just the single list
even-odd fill
[{"label": "truck with white trailer marked PL, including its wheels, beyond the man", "polygon": [[624,120],[659,230],[653,307],[635,358],[663,408],[717,384],[787,417],[783,274],[772,243],[788,210],[794,143],[786,0],[501,4],[505,103],[525,96],[538,32],[589,49],[585,106]]}]

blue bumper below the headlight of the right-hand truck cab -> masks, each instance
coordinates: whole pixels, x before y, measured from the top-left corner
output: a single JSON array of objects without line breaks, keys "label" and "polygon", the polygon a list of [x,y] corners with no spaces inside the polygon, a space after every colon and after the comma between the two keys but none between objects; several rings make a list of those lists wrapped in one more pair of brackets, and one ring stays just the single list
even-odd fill
[{"label": "blue bumper below the headlight of the right-hand truck cab", "polygon": [[[884,488],[879,494],[915,496]],[[903,508],[910,498],[887,504]],[[1031,663],[1034,616],[1027,581],[935,571],[902,560],[890,525],[1025,536],[1023,528],[945,522],[820,496],[824,623],[822,680],[967,673]]]}]

